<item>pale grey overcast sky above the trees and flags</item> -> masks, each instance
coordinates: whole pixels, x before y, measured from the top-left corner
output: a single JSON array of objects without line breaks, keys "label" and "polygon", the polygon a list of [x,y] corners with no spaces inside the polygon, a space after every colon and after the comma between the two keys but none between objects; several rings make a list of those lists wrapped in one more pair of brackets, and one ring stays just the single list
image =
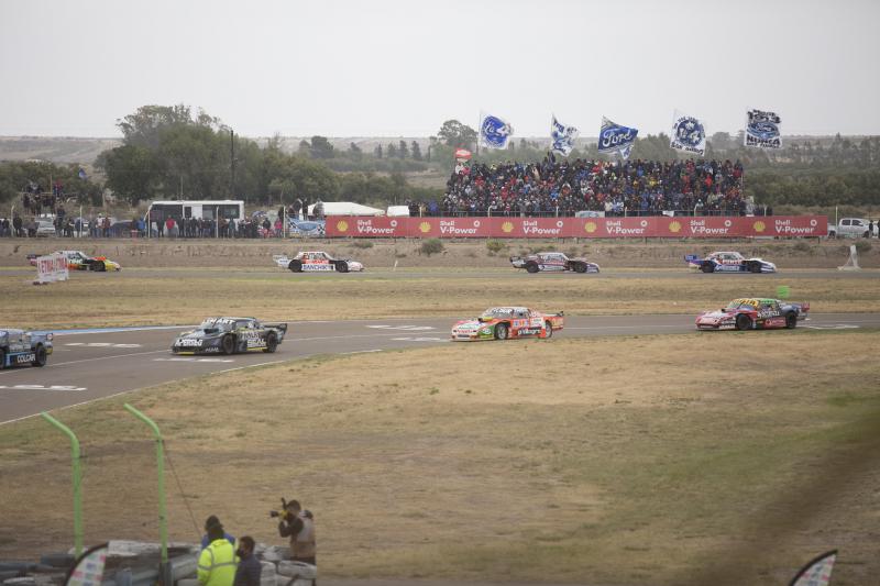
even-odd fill
[{"label": "pale grey overcast sky above the trees and flags", "polygon": [[427,136],[481,109],[669,132],[880,134],[880,1],[0,0],[0,135],[116,136],[147,103],[240,134]]}]

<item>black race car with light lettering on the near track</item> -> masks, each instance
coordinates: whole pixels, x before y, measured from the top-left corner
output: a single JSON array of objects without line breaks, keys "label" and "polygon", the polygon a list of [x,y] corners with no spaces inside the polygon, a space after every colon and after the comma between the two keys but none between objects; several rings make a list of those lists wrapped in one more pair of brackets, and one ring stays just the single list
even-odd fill
[{"label": "black race car with light lettering on the near track", "polygon": [[263,324],[254,318],[208,318],[195,330],[182,332],[174,354],[238,354],[275,352],[287,333],[286,323]]}]

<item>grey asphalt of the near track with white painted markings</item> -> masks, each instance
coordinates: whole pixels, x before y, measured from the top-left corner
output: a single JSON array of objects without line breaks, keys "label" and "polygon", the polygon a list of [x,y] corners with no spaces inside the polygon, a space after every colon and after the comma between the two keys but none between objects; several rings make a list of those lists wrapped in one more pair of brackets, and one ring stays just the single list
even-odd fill
[{"label": "grey asphalt of the near track with white painted markings", "polygon": [[[466,316],[464,316],[466,317]],[[174,336],[186,325],[150,329],[70,330],[55,332],[55,352],[43,368],[0,371],[0,424],[41,411],[86,403],[113,395],[180,380],[221,374],[319,354],[355,354],[450,343],[454,318],[352,321],[290,321],[287,336],[274,354],[176,356]],[[880,313],[812,314],[799,328],[880,328]],[[559,338],[670,334],[694,331],[694,317],[606,316],[565,317]],[[784,332],[751,332],[784,335]],[[706,332],[704,335],[728,335]],[[516,344],[518,341],[483,342]],[[548,341],[548,343],[552,343]]]}]

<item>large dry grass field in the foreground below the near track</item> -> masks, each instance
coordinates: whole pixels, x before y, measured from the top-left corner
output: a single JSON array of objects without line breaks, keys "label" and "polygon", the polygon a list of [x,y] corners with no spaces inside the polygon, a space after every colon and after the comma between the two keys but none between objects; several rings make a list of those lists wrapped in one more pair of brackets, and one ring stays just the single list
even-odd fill
[{"label": "large dry grass field in the foreground below the near track", "polygon": [[[878,342],[795,331],[449,345],[129,400],[164,430],[197,523],[217,513],[280,543],[267,510],[297,497],[329,575],[724,584],[705,574],[724,567],[730,584],[782,584],[840,548],[835,584],[866,584],[880,570],[880,425],[865,419],[880,407]],[[157,535],[153,445],[121,403],[56,413],[86,447],[88,542]],[[0,557],[59,549],[65,440],[28,420],[0,428]],[[172,537],[195,541],[167,485]]]}]

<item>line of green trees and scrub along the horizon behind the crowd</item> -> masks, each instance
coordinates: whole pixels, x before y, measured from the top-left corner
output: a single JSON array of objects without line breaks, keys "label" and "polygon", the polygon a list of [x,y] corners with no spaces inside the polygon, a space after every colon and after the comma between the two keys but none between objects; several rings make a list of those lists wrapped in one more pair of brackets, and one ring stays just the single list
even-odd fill
[{"label": "line of green trees and scrub along the horizon behind the crowd", "polygon": [[[337,148],[324,136],[302,141],[286,153],[279,137],[264,146],[243,139],[219,119],[190,107],[144,106],[118,121],[122,145],[102,152],[96,168],[102,177],[79,176],[78,165],[1,163],[0,201],[23,191],[30,181],[51,190],[50,177],[65,194],[99,204],[103,188],[132,206],[143,200],[244,199],[276,203],[299,197],[315,201],[351,200],[402,203],[439,199],[441,188],[417,188],[405,174],[429,168],[448,173],[458,147],[474,150],[477,133],[447,120],[427,148],[417,141],[378,144],[373,152],[355,143]],[[507,150],[481,150],[484,163],[531,162],[547,156],[548,141],[519,139]],[[595,144],[579,145],[572,158],[603,158]],[[666,134],[637,140],[631,159],[669,161],[685,155],[669,147]],[[719,132],[707,144],[707,158],[739,159],[746,167],[746,189],[757,203],[776,206],[876,206],[880,201],[880,136],[794,139],[779,151],[743,146],[741,133]]]}]

